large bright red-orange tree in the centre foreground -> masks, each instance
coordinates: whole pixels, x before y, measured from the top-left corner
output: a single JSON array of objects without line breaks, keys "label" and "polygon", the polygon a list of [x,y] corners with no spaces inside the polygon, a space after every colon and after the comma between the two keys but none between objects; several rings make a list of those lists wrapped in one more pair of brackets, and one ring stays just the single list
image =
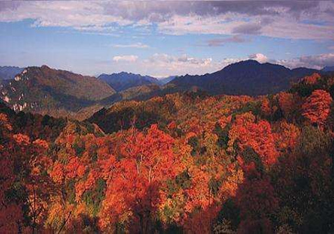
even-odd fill
[{"label": "large bright red-orange tree in the centre foreground", "polygon": [[115,168],[106,187],[106,199],[100,217],[104,229],[127,222],[141,233],[152,231],[151,219],[160,202],[160,188],[168,178],[182,172],[181,158],[173,151],[173,137],[152,125],[143,134],[135,128],[117,135],[118,160],[109,160]]}]

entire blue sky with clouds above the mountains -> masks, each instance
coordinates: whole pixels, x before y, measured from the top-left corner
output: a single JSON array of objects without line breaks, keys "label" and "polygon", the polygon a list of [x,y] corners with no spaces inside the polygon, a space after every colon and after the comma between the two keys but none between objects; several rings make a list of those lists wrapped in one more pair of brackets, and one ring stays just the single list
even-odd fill
[{"label": "entire blue sky with clouds above the mountains", "polygon": [[205,74],[334,65],[334,1],[0,1],[0,65]]}]

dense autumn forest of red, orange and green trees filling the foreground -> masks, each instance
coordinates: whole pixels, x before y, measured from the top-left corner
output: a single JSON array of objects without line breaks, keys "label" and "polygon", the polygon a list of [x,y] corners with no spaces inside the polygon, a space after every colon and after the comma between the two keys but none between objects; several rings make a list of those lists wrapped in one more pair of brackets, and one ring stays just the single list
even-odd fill
[{"label": "dense autumn forest of red, orange and green trees filling the foreground", "polygon": [[334,233],[334,76],[86,121],[0,103],[0,233]]}]

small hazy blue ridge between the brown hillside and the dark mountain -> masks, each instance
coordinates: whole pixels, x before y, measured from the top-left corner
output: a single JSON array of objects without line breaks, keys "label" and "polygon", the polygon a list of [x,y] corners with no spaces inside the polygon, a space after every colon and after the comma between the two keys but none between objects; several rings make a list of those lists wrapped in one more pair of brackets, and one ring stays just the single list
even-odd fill
[{"label": "small hazy blue ridge between the brown hillside and the dark mountain", "polygon": [[152,76],[141,76],[140,74],[133,74],[129,72],[101,74],[97,78],[109,84],[117,92],[127,90],[130,87],[150,84],[162,84],[157,78],[154,78]]}]

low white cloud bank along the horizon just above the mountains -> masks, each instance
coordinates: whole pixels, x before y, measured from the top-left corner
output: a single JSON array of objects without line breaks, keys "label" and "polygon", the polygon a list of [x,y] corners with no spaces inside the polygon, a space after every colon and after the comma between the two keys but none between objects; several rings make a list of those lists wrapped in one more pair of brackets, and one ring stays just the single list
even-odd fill
[{"label": "low white cloud bank along the horizon just above the mountains", "polygon": [[[314,56],[301,56],[289,60],[274,60],[268,58],[262,53],[255,53],[248,57],[239,58],[223,58],[222,60],[214,60],[213,58],[198,58],[183,54],[181,56],[173,56],[166,53],[154,53],[152,56],[141,59],[136,56],[115,56],[115,62],[103,62],[97,65],[97,73],[113,73],[113,72],[133,72],[136,74],[145,74],[154,77],[166,77],[170,75],[182,76],[185,74],[201,75],[216,72],[227,65],[249,58],[256,59],[259,62],[271,62],[283,65],[289,68],[309,67],[322,69],[324,66],[334,65],[334,53],[324,53]],[[118,61],[118,62],[116,62]],[[95,68],[97,68],[95,67]]]}]

